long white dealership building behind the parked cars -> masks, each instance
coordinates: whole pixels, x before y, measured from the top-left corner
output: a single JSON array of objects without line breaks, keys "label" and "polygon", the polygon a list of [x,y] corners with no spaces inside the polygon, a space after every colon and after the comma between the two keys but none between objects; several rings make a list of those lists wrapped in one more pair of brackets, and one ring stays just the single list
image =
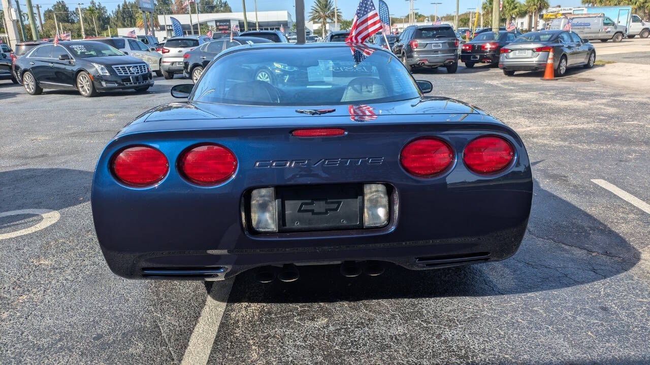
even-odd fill
[{"label": "long white dealership building behind the parked cars", "polygon": [[[240,31],[244,31],[244,13],[206,13],[191,15],[190,14],[166,14],[158,16],[158,23],[160,24],[159,31],[156,32],[156,37],[159,40],[170,38],[174,36],[172,30],[172,20],[176,18],[181,22],[184,34],[192,34],[192,26],[194,34],[199,34],[199,25],[208,25],[214,31],[229,32],[235,25],[239,25]],[[257,27],[264,31],[279,31],[280,27],[288,33],[291,31],[293,19],[291,14],[286,10],[270,11],[270,12],[246,12],[246,20],[248,23],[248,30],[256,29],[255,20],[257,19]],[[190,25],[191,24],[191,25]]]}]

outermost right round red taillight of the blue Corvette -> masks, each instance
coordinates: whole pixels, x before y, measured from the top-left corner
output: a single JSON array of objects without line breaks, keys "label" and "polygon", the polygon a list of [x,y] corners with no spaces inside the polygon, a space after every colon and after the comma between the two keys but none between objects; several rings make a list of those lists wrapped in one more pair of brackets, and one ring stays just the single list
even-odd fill
[{"label": "outermost right round red taillight of the blue Corvette", "polygon": [[463,151],[463,162],[475,173],[495,173],[510,164],[515,151],[512,145],[497,136],[479,137]]}]

